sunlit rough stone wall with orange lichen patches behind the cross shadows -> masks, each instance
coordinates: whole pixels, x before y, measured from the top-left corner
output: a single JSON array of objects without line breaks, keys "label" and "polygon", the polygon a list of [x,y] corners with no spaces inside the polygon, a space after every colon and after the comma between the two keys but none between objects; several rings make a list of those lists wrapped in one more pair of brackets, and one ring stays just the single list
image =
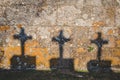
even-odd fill
[{"label": "sunlit rough stone wall with orange lichen patches behind the cross shadows", "polygon": [[75,70],[86,70],[87,62],[96,59],[97,47],[90,43],[96,32],[109,40],[102,59],[120,66],[119,14],[120,0],[0,0],[0,67],[9,69],[12,56],[21,54],[19,40],[13,39],[21,25],[33,37],[25,43],[25,55],[36,56],[37,69],[49,69],[49,60],[59,57],[52,37],[61,29],[71,38],[63,57],[74,59]]}]

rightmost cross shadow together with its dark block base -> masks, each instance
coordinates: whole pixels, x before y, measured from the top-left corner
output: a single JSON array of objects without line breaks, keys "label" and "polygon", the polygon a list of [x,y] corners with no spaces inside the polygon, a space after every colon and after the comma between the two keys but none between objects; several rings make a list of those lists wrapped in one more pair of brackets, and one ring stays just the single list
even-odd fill
[{"label": "rightmost cross shadow together with its dark block base", "polygon": [[103,44],[108,44],[108,40],[102,39],[102,33],[98,32],[98,37],[95,40],[91,40],[91,43],[97,46],[97,60],[90,60],[87,63],[87,68],[89,72],[111,72],[111,61],[101,60],[102,46]]}]

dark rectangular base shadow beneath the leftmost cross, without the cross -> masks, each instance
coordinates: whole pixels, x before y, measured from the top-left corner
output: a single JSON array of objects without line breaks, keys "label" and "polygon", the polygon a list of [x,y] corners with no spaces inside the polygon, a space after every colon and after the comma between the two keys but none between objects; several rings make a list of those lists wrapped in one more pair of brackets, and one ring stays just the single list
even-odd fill
[{"label": "dark rectangular base shadow beneath the leftmost cross, without the cross", "polygon": [[36,57],[32,56],[13,56],[11,58],[12,70],[29,70],[36,68]]}]

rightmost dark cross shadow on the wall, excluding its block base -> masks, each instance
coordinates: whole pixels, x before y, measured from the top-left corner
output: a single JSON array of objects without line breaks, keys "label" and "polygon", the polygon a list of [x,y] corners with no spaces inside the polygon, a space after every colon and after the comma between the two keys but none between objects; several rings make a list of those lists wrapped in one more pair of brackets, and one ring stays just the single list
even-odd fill
[{"label": "rightmost dark cross shadow on the wall, excluding its block base", "polygon": [[95,43],[98,47],[97,59],[98,59],[98,62],[100,62],[101,61],[102,46],[103,46],[103,44],[108,44],[108,40],[103,40],[101,38],[101,32],[98,32],[97,39],[91,40],[91,43]]}]

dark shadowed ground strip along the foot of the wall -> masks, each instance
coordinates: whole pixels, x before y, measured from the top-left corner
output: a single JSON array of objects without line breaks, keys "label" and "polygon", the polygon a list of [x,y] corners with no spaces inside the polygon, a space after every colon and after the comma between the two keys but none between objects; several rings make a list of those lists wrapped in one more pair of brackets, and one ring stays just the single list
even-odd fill
[{"label": "dark shadowed ground strip along the foot of the wall", "polygon": [[0,71],[0,80],[120,80],[120,73],[70,71]]}]

